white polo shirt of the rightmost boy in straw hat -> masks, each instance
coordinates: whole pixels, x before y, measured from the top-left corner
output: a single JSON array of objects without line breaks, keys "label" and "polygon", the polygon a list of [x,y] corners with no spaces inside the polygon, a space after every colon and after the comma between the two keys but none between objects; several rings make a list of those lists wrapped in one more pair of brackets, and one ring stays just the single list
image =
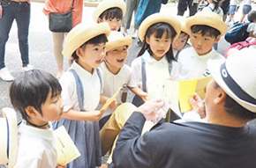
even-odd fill
[{"label": "white polo shirt of the rightmost boy in straw hat", "polygon": [[212,49],[206,55],[198,55],[193,47],[182,50],[178,56],[179,80],[192,80],[198,77],[210,75],[207,69],[207,61],[210,59],[222,59],[224,57]]}]

